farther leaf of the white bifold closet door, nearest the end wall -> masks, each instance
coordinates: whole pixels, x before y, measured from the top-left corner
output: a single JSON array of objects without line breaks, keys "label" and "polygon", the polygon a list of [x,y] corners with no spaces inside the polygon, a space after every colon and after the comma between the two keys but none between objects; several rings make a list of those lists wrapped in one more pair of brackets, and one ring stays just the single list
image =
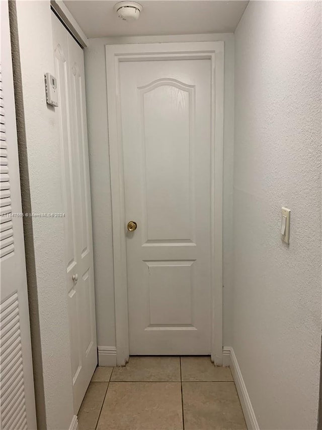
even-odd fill
[{"label": "farther leaf of the white bifold closet door, nearest the end wall", "polygon": [[78,283],[82,289],[79,295],[79,309],[82,315],[81,328],[82,357],[84,362],[84,377],[88,383],[91,380],[97,364],[95,297],[93,274],[93,244],[90,172],[87,138],[87,118],[85,99],[85,69],[84,52],[71,35],[68,34],[68,55],[70,65],[71,109],[73,113],[73,139],[75,160],[78,163],[77,188],[78,192],[78,229],[79,238]]}]

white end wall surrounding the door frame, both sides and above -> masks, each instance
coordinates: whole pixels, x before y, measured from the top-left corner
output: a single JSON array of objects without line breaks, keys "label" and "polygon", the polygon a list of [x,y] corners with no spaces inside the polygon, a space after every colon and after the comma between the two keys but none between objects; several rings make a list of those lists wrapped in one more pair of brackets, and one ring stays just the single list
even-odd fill
[{"label": "white end wall surrounding the door frame, both sides and above", "polygon": [[113,278],[112,213],[109,141],[106,98],[105,45],[116,43],[153,43],[171,41],[225,42],[224,60],[224,344],[231,344],[231,318],[228,312],[232,288],[232,183],[233,183],[233,34],[183,36],[108,37],[90,39],[85,49],[86,98],[88,111],[91,169],[95,294],[98,345],[115,346],[115,309]]}]

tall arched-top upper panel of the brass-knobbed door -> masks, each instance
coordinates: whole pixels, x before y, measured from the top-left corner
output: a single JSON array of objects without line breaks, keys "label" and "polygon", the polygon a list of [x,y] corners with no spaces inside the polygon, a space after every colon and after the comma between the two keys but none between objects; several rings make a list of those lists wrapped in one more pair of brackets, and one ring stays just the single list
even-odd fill
[{"label": "tall arched-top upper panel of the brass-knobbed door", "polygon": [[145,156],[146,242],[193,241],[194,87],[168,79],[138,92]]}]

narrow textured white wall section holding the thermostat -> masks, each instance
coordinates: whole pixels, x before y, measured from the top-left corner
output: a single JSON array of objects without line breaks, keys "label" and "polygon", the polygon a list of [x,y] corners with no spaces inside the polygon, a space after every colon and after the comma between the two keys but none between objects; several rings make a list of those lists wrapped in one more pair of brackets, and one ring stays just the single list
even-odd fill
[{"label": "narrow textured white wall section holding the thermostat", "polygon": [[[20,162],[24,166],[28,162],[31,210],[35,213],[63,212],[59,124],[54,108],[46,105],[44,86],[44,73],[54,72],[49,0],[18,1],[17,20],[28,154],[28,160]],[[43,375],[38,376],[39,369],[35,369],[35,377],[36,387],[38,378],[43,377],[44,395],[44,399],[40,400],[37,392],[36,398],[44,403],[46,415],[41,419],[38,417],[38,423],[45,421],[48,430],[66,430],[73,418],[73,400],[64,219],[33,218],[32,228],[33,238],[28,238],[26,254],[32,252],[28,243],[33,240],[36,271],[35,279],[31,281],[37,292],[33,291],[32,296],[38,297],[41,338],[40,345],[36,343],[37,336],[32,333],[33,351],[38,353],[41,348]],[[33,318],[38,317],[31,314]]]}]

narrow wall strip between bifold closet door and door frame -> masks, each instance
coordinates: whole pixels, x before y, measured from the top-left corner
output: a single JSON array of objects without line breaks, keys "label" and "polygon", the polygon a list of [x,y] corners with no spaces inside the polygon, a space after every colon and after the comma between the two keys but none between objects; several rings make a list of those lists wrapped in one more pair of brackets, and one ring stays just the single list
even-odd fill
[{"label": "narrow wall strip between bifold closet door and door frame", "polygon": [[99,346],[115,346],[115,306],[105,46],[85,48],[86,103],[92,198],[96,330]]}]

